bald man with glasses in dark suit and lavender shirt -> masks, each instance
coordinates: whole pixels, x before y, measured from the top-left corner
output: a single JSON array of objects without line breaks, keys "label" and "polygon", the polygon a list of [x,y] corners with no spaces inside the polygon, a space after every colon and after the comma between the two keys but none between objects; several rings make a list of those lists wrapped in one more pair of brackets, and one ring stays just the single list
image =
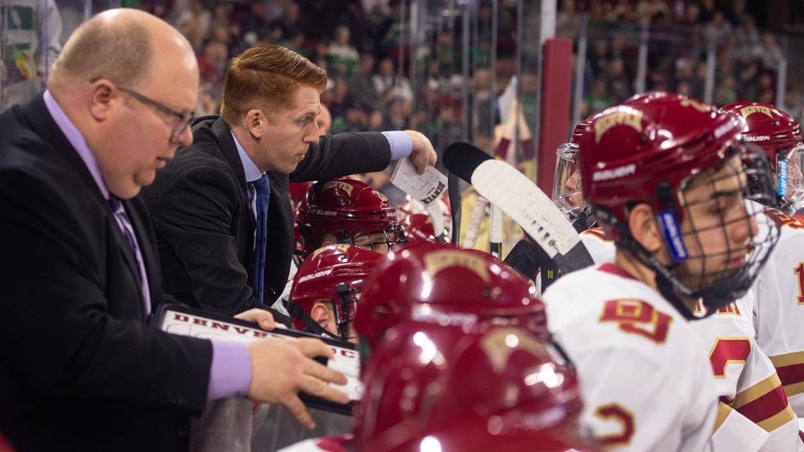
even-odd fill
[{"label": "bald man with glasses in dark suit and lavender shirt", "polygon": [[[179,451],[207,401],[338,403],[318,339],[216,343],[146,327],[163,302],[136,196],[178,146],[199,70],[182,35],[138,10],[82,24],[47,91],[0,114],[0,432],[18,452]],[[265,311],[240,318],[273,327]]]}]

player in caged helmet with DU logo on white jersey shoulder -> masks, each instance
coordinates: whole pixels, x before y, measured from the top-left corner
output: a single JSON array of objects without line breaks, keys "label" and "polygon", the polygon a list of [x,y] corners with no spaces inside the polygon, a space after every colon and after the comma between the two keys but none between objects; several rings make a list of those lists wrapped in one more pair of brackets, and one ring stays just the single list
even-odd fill
[{"label": "player in caged helmet with DU logo on white jersey shoulder", "polygon": [[740,126],[657,94],[606,110],[578,140],[581,186],[617,257],[564,276],[546,301],[578,366],[582,421],[613,450],[703,450],[712,434],[711,366],[686,318],[699,297],[719,309],[744,294],[775,239],[751,241]]}]

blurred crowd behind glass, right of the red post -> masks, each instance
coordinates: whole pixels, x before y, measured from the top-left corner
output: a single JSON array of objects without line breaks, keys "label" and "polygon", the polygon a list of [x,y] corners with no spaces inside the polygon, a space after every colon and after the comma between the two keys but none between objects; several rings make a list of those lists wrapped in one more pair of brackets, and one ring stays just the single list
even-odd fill
[{"label": "blurred crowd behind glass, right of the red post", "polygon": [[[797,3],[797,2],[791,2]],[[616,105],[633,95],[642,25],[650,31],[645,88],[703,99],[708,46],[716,60],[712,103],[773,104],[785,59],[776,33],[763,30],[746,0],[588,0],[560,2],[557,34],[579,35],[587,18],[589,51],[585,60],[585,113]],[[786,105],[798,115],[802,89],[788,79]]]}]

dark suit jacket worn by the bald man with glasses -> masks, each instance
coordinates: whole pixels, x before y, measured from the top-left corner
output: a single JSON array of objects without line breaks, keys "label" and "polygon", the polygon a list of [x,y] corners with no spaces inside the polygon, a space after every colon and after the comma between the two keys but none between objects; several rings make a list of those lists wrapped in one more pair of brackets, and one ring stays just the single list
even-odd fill
[{"label": "dark suit jacket worn by the bald man with glasses", "polygon": [[[0,129],[0,431],[19,452],[186,450],[211,344],[146,327],[125,236],[42,97]],[[150,220],[123,204],[155,306]]]}]

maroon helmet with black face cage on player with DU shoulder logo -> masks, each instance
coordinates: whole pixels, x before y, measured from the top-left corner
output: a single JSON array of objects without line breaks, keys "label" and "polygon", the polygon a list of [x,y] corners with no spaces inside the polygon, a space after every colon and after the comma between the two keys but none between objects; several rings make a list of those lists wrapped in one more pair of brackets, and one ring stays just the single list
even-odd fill
[{"label": "maroon helmet with black face cage on player with DU shoulder logo", "polygon": [[[596,115],[578,140],[581,185],[593,214],[620,248],[656,271],[659,290],[687,317],[678,294],[703,298],[712,310],[733,302],[749,290],[776,244],[777,228],[761,216],[761,206],[743,202],[772,195],[771,170],[744,146],[744,127],[735,113],[653,92]],[[746,161],[753,162],[751,169],[744,168]],[[719,191],[720,180],[739,187]],[[748,180],[755,182],[749,186]],[[705,199],[687,198],[704,191],[711,192]],[[704,216],[688,214],[703,212],[708,202],[714,207]],[[630,236],[628,216],[638,203],[653,209],[671,262],[658,261]],[[712,217],[719,220],[710,224]],[[757,234],[760,223],[768,233]],[[748,232],[745,241],[728,238],[736,224]],[[712,234],[718,238],[706,238]]]}]

